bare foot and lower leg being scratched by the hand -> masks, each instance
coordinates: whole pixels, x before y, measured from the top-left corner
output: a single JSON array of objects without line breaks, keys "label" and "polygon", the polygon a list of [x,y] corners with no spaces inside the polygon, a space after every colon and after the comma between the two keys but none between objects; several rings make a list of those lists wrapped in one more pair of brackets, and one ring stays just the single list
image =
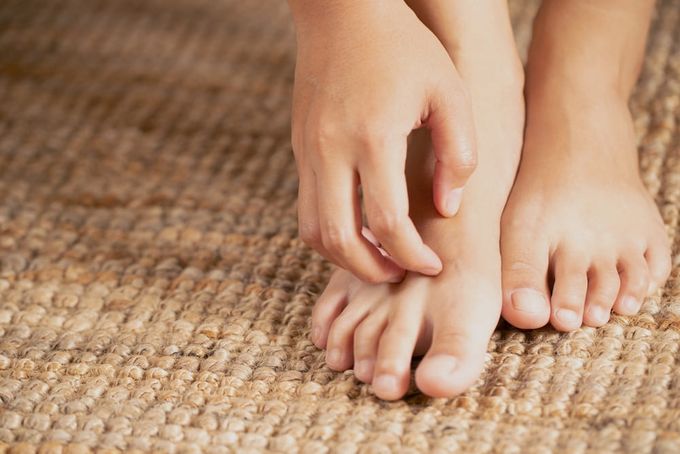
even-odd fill
[{"label": "bare foot and lower leg being scratched by the hand", "polygon": [[[465,27],[450,27],[458,35],[440,37],[442,42],[452,49],[479,43],[482,30],[487,46],[474,54],[451,52],[471,95],[478,131],[478,167],[457,215],[442,218],[432,203],[434,158],[426,134],[413,138],[406,166],[410,215],[443,270],[435,277],[408,273],[401,283],[379,285],[336,271],[312,316],[313,341],[328,350],[329,367],[354,367],[356,377],[372,383],[383,399],[404,395],[414,354],[425,355],[416,371],[422,392],[442,397],[463,392],[482,370],[501,311],[499,226],[522,142],[521,65],[504,2],[449,3],[460,10],[446,11],[451,15],[446,20],[459,24],[464,18]],[[495,71],[499,66],[506,71]]]}]

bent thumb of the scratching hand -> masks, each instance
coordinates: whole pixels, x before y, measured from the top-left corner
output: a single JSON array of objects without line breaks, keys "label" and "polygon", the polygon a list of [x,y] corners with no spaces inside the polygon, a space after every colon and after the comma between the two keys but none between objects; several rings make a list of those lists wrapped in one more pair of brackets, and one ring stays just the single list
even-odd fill
[{"label": "bent thumb of the scratching hand", "polygon": [[442,89],[431,102],[427,122],[437,158],[434,170],[434,204],[443,216],[458,212],[463,187],[477,166],[472,107],[461,84]]}]

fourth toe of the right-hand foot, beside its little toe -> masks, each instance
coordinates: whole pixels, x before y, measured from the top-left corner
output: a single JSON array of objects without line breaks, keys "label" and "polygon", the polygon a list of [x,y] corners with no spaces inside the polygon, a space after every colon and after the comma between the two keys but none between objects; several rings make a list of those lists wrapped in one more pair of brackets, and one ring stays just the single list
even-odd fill
[{"label": "fourth toe of the right-hand foot, beside its little toe", "polygon": [[642,254],[631,253],[619,261],[621,288],[614,303],[614,312],[635,315],[649,290],[649,269]]}]

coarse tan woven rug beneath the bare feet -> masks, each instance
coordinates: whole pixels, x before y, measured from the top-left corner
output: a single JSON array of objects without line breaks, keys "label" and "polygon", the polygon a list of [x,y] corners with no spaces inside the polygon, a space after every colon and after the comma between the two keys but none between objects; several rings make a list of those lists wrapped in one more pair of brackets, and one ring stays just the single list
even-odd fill
[{"label": "coarse tan woven rug beneath the bare feet", "polygon": [[309,340],[293,66],[280,0],[0,2],[0,451],[680,452],[676,0],[632,100],[670,281],[601,329],[501,325],[454,399],[380,401]]}]

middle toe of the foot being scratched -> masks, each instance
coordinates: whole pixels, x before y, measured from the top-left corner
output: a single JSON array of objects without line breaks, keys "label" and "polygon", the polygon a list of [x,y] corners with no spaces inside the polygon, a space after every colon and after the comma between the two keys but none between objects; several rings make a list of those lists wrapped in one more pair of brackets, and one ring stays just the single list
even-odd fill
[{"label": "middle toe of the foot being scratched", "polygon": [[378,355],[380,337],[387,325],[386,310],[367,316],[354,331],[354,376],[364,383],[373,381],[373,369]]}]

